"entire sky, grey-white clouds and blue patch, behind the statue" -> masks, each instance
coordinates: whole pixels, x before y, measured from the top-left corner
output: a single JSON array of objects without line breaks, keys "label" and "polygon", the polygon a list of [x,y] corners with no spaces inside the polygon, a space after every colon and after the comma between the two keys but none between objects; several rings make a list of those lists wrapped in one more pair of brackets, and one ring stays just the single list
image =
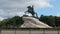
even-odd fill
[{"label": "entire sky, grey-white clouds and blue patch, behind the statue", "polygon": [[60,0],[0,0],[0,20],[13,17],[16,15],[22,16],[27,10],[27,6],[34,5],[35,12],[38,16],[43,15],[58,15],[60,10]]}]

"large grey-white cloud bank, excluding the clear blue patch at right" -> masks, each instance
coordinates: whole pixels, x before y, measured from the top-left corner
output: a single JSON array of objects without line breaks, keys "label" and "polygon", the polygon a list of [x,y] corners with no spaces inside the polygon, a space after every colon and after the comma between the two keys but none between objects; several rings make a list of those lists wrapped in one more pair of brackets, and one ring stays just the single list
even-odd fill
[{"label": "large grey-white cloud bank, excluding the clear blue patch at right", "polygon": [[0,16],[3,18],[22,16],[29,5],[34,5],[35,8],[52,7],[50,0],[0,0]]}]

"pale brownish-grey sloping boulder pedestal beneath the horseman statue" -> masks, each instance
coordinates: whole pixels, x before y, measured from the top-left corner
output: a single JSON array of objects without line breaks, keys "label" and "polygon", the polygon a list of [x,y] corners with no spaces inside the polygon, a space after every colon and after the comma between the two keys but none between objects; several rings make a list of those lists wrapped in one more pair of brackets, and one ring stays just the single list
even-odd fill
[{"label": "pale brownish-grey sloping boulder pedestal beneath the horseman statue", "polygon": [[23,21],[24,24],[21,25],[22,28],[52,28],[33,17],[23,17]]}]

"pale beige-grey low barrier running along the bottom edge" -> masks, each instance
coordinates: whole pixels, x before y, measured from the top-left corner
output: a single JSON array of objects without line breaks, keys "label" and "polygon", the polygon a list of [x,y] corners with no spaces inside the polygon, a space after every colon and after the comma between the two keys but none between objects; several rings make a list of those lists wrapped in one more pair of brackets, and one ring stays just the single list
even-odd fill
[{"label": "pale beige-grey low barrier running along the bottom edge", "polygon": [[59,30],[0,30],[0,34],[60,34]]}]

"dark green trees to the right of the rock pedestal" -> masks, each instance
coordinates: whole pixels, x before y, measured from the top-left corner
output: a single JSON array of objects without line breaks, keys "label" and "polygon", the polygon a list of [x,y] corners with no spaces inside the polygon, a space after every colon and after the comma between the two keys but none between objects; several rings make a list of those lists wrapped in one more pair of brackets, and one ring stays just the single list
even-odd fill
[{"label": "dark green trees to the right of the rock pedestal", "polygon": [[41,17],[39,18],[40,21],[43,21],[44,23],[53,26],[53,27],[58,27],[60,26],[60,17],[57,16],[44,16],[41,15]]}]

